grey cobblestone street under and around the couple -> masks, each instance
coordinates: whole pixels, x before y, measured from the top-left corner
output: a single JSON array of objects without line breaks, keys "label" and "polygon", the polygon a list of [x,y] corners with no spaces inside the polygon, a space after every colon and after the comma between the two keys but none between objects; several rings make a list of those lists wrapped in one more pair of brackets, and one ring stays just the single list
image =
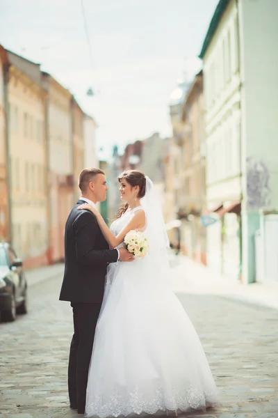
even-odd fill
[{"label": "grey cobblestone street under and around the couple", "polygon": [[[60,274],[29,289],[30,310],[0,324],[0,417],[77,417],[67,398],[72,336]],[[204,346],[218,410],[183,417],[278,417],[278,311],[217,295],[178,294]]]}]

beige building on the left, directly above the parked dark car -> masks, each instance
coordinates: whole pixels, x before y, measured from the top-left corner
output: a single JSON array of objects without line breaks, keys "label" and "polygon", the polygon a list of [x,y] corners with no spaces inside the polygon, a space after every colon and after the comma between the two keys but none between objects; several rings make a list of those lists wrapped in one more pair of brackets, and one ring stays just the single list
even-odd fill
[{"label": "beige building on the left, directly above the parked dark car", "polygon": [[26,268],[47,264],[46,93],[40,65],[8,52],[12,242]]}]

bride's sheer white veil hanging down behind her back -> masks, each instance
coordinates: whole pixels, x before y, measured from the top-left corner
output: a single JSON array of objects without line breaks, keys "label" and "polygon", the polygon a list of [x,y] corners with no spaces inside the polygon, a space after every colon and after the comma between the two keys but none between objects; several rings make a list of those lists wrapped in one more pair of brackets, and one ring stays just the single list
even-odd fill
[{"label": "bride's sheer white veil hanging down behind her back", "polygon": [[152,180],[146,176],[146,194],[141,199],[141,206],[146,212],[145,235],[149,241],[149,255],[152,264],[155,265],[157,272],[165,274],[168,263],[168,248],[170,247],[167,236],[163,212],[158,194]]}]

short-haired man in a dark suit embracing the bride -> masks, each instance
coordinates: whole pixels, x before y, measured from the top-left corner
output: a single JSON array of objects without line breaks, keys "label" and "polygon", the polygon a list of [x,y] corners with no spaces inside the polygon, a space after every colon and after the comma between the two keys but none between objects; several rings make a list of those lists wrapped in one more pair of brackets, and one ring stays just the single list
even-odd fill
[{"label": "short-haired man in a dark suit embracing the bride", "polygon": [[92,206],[106,199],[104,171],[83,169],[79,175],[81,198],[65,225],[65,273],[60,300],[71,302],[74,335],[70,346],[68,389],[70,408],[85,412],[86,388],[95,327],[104,296],[108,263],[133,261],[125,249],[109,249],[90,210],[78,210],[84,202]]}]

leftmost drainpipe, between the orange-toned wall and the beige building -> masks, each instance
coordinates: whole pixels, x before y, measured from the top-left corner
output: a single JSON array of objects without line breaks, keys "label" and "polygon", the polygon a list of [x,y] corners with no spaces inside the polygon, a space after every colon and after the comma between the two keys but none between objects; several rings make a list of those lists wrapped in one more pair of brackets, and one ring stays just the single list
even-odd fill
[{"label": "leftmost drainpipe, between the orange-toned wall and the beige building", "polygon": [[12,224],[12,199],[11,199],[11,156],[10,156],[10,105],[8,102],[8,82],[9,82],[9,63],[3,65],[3,100],[5,109],[5,124],[6,124],[6,182],[8,189],[8,242],[13,245],[13,224]]}]

